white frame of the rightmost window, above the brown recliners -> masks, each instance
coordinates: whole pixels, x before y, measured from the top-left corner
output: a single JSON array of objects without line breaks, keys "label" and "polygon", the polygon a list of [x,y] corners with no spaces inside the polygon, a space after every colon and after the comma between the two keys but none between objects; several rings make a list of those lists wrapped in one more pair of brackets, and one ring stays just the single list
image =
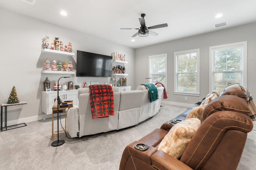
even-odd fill
[{"label": "white frame of the rightmost window, above the brown recliners", "polygon": [[227,47],[232,47],[232,46],[243,46],[243,68],[242,68],[242,75],[243,75],[243,78],[242,78],[242,86],[245,86],[247,87],[247,41],[242,41],[242,42],[238,42],[238,43],[230,43],[230,44],[224,44],[224,45],[216,45],[216,46],[212,46],[212,47],[209,47],[209,61],[210,61],[210,68],[209,68],[209,90],[210,90],[210,93],[213,91],[213,81],[212,81],[212,78],[213,78],[213,68],[212,68],[212,60],[213,60],[213,56],[212,56],[212,52],[214,49],[226,49]]}]

